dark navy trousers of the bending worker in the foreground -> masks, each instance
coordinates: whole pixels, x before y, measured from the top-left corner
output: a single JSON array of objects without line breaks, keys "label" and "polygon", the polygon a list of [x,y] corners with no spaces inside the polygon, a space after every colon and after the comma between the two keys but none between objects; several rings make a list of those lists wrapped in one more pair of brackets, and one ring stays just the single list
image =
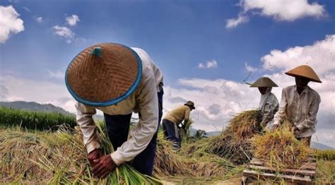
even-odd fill
[{"label": "dark navy trousers of the bending worker in the foreground", "polygon": [[[158,93],[158,126],[160,124],[160,119],[163,115],[163,89]],[[141,117],[141,114],[139,114]],[[130,126],[131,114],[127,115],[109,115],[105,114],[105,121],[107,127],[108,137],[112,142],[114,150],[117,150],[124,142],[127,141],[129,126]],[[158,129],[157,129],[158,131]],[[153,174],[153,160],[155,158],[155,150],[156,150],[156,139],[157,139],[157,131],[153,135],[150,143],[139,155],[137,155],[131,166],[134,167],[137,171],[142,174],[147,174],[151,176]]]}]

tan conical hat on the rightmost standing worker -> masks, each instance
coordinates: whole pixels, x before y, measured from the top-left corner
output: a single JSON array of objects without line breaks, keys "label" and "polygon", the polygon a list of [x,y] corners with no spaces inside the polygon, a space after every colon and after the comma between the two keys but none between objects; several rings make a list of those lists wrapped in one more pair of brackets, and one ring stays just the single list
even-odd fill
[{"label": "tan conical hat on the rightmost standing worker", "polygon": [[320,78],[317,76],[317,73],[315,73],[315,71],[310,66],[307,65],[302,65],[293,68],[290,71],[287,71],[286,74],[289,76],[302,76],[310,79],[313,82],[322,83]]}]

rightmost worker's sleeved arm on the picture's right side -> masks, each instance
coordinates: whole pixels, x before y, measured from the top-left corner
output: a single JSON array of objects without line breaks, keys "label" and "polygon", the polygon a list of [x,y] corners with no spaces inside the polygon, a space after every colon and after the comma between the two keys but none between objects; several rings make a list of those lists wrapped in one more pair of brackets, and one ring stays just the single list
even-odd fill
[{"label": "rightmost worker's sleeved arm on the picture's right side", "polygon": [[319,95],[313,98],[310,104],[310,109],[307,114],[307,117],[305,118],[304,121],[302,121],[300,124],[297,125],[297,128],[299,129],[300,132],[306,129],[310,129],[312,126],[315,126],[317,124],[317,112],[319,110],[320,102],[321,99]]}]

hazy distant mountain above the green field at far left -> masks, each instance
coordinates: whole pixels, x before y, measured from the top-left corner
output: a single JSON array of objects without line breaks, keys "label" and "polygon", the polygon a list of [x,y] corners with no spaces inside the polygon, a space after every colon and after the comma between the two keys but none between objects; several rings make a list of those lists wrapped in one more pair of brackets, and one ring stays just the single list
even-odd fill
[{"label": "hazy distant mountain above the green field at far left", "polygon": [[74,116],[74,114],[72,114],[71,112],[67,112],[61,107],[56,107],[52,104],[40,104],[37,102],[16,101],[16,102],[0,102],[0,106],[11,107],[14,109],[30,110],[35,112],[52,112],[52,113],[61,113],[65,115]]}]

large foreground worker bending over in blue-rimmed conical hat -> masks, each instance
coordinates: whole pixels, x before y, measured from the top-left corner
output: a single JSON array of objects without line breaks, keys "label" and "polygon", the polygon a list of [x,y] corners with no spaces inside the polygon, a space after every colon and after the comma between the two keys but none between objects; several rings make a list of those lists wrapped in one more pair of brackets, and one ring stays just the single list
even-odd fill
[{"label": "large foreground worker bending over in blue-rimmed conical hat", "polygon": [[[118,165],[132,161],[151,175],[156,137],[162,117],[163,75],[150,56],[122,44],[96,44],[84,49],[66,70],[66,87],[76,99],[77,123],[83,133],[95,177],[107,177]],[[102,155],[92,119],[96,109],[105,115],[114,152]],[[139,124],[128,138],[132,112]]]}]

